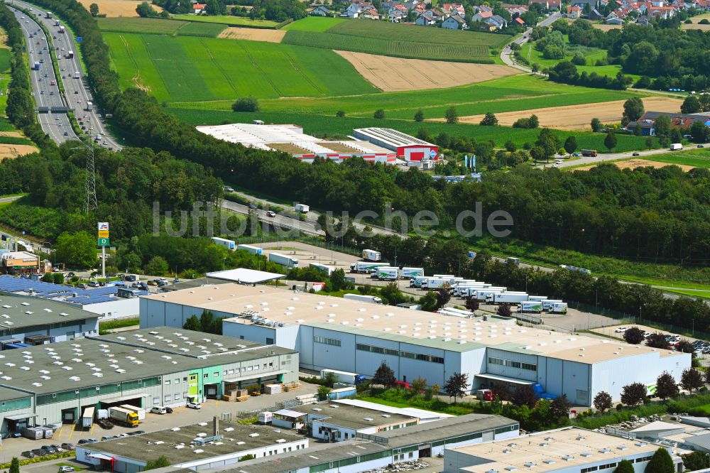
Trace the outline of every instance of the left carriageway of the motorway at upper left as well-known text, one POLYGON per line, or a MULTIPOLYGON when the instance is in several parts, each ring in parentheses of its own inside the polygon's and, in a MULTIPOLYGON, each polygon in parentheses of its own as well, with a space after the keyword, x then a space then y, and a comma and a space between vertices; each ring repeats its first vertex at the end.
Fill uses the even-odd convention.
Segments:
POLYGON ((15 14, 25 35, 30 62, 30 82, 35 104, 39 110, 47 110, 47 112, 40 112, 37 116, 40 126, 55 143, 77 139, 66 112, 49 112, 53 107, 62 109, 62 107, 67 107, 67 104, 57 85, 58 79, 55 77, 52 67, 52 55, 45 33, 25 13, 12 7, 9 8, 15 14), (39 64, 39 70, 36 70, 35 64, 39 64))

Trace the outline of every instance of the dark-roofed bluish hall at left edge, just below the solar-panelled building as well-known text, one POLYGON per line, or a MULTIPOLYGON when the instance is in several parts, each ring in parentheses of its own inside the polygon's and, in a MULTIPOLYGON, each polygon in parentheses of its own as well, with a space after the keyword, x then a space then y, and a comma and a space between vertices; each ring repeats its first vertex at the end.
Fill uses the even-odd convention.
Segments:
POLYGON ((98 333, 99 318, 91 312, 53 300, 0 295, 0 344, 4 350, 98 333))

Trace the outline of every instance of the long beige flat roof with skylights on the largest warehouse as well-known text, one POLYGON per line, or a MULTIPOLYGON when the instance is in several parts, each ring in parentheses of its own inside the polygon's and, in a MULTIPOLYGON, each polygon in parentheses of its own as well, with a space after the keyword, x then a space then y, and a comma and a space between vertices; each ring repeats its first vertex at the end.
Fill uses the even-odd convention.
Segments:
POLYGON ((295 293, 293 290, 272 286, 251 287, 226 283, 151 294, 145 298, 233 314, 234 317, 226 320, 231 323, 253 325, 249 318, 239 315, 258 312, 272 322, 285 325, 311 325, 339 332, 359 332, 371 337, 395 339, 454 352, 492 347, 585 364, 638 354, 689 357, 688 354, 677 354, 645 345, 629 345, 623 341, 518 327, 501 324, 496 320, 452 317, 328 295, 295 293))

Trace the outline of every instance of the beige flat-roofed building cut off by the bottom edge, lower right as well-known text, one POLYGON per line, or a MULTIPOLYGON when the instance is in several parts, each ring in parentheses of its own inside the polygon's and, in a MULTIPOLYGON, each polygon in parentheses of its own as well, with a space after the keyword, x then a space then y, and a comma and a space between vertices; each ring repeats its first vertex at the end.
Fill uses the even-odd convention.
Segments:
POLYGON ((683 461, 672 447, 616 437, 594 430, 563 428, 509 440, 444 450, 444 473, 534 471, 536 473, 611 473, 621 460, 643 473, 659 448, 670 453, 677 472, 683 461))

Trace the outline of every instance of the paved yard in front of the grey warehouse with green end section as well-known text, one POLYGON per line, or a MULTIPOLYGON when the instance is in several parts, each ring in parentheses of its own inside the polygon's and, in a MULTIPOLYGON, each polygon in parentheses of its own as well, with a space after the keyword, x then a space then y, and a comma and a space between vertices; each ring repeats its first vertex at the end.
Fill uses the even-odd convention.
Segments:
MULTIPOLYGON (((80 430, 79 428, 76 428, 75 424, 65 424, 62 425, 62 428, 55 432, 54 437, 51 439, 30 440, 22 437, 4 439, 2 441, 2 447, 0 447, 0 463, 10 462, 12 457, 20 457, 22 452, 40 448, 42 445, 62 444, 63 442, 71 442, 74 445, 77 445, 79 440, 82 438, 93 437, 97 440, 101 440, 101 437, 104 435, 116 435, 123 432, 131 432, 133 430, 145 430, 146 432, 165 430, 168 428, 178 427, 180 425, 190 425, 204 420, 211 420, 215 415, 217 415, 217 417, 221 417, 223 413, 231 413, 231 415, 236 418, 236 415, 239 415, 239 413, 243 411, 263 411, 266 408, 271 408, 278 402, 290 401, 294 399, 295 396, 315 393, 317 389, 318 386, 315 384, 302 383, 300 388, 297 388, 295 391, 257 396, 249 398, 249 400, 242 403, 209 400, 202 403, 202 409, 199 411, 196 411, 195 409, 188 409, 186 407, 179 407, 173 408, 172 414, 158 415, 146 413, 145 420, 141 420, 141 424, 138 425, 137 429, 114 425, 114 428, 104 430, 99 427, 99 425, 94 424, 94 427, 90 430, 80 430)), ((23 472, 24 471, 25 467, 23 467, 23 472)), ((52 472, 55 473, 56 471, 57 468, 55 466, 52 469, 52 472)))

